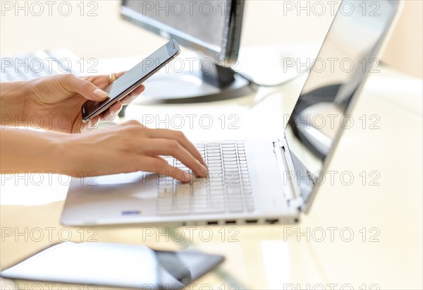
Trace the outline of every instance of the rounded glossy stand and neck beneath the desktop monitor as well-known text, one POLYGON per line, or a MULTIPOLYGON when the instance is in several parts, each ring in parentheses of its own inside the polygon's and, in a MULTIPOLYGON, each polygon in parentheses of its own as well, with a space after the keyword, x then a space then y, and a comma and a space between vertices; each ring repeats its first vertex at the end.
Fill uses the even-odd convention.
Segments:
POLYGON ((214 64, 211 69, 166 71, 162 68, 145 82, 137 104, 215 102, 250 95, 257 87, 230 68, 214 64))

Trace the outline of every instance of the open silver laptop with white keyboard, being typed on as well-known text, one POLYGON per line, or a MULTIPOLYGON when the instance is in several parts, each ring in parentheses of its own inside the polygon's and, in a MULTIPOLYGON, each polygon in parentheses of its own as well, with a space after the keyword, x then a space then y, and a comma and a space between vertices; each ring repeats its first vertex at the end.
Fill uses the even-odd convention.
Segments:
MULTIPOLYGON (((376 57, 399 6, 400 1, 393 0, 341 1, 285 130, 277 138, 197 143, 209 165, 209 178, 191 183, 143 171, 72 179, 61 223, 299 222, 312 205, 343 128, 348 128, 347 116, 368 73, 377 69, 376 57), (322 120, 324 116, 332 119, 322 120)), ((165 158, 189 170, 178 160, 165 158)))

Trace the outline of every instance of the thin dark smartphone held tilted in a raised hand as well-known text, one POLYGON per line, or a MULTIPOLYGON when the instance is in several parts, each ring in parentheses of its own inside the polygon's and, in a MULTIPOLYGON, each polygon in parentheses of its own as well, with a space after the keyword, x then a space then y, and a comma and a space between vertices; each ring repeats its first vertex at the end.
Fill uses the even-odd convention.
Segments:
POLYGON ((164 67, 175 56, 180 53, 180 48, 176 40, 171 40, 157 49, 150 56, 143 59, 130 71, 124 73, 104 89, 109 97, 102 102, 87 101, 82 104, 82 121, 87 122, 98 114, 108 109, 112 104, 118 102, 130 92, 139 87, 150 76, 154 75, 160 68, 164 67))

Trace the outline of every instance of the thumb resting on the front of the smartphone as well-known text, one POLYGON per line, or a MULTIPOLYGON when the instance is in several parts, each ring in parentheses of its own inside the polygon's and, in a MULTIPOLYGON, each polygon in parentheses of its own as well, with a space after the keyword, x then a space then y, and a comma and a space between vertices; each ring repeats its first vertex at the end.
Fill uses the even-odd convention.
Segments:
POLYGON ((109 97, 107 92, 100 90, 99 87, 93 83, 83 80, 82 78, 78 78, 76 75, 72 74, 66 75, 64 86, 66 90, 78 92, 78 94, 85 97, 85 99, 90 99, 96 102, 104 101, 106 97, 109 97))

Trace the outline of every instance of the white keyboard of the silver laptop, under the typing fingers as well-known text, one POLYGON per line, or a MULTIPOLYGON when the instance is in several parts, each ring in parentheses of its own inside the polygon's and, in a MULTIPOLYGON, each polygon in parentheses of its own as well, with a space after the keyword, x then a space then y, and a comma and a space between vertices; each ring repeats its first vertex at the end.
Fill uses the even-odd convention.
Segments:
MULTIPOLYGON (((200 143, 196 147, 209 166, 209 176, 190 183, 159 176, 158 214, 252 212, 254 204, 244 144, 200 143)), ((165 159, 169 164, 191 172, 177 159, 165 159)))

